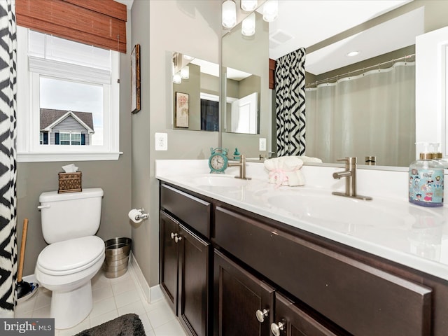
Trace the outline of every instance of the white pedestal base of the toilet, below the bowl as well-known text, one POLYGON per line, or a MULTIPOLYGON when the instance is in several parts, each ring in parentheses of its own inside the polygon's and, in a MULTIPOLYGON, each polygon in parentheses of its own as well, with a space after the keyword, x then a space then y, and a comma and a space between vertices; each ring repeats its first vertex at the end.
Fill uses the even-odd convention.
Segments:
POLYGON ((72 328, 90 314, 92 307, 92 281, 89 280, 70 291, 53 291, 50 316, 55 318, 56 329, 72 328))

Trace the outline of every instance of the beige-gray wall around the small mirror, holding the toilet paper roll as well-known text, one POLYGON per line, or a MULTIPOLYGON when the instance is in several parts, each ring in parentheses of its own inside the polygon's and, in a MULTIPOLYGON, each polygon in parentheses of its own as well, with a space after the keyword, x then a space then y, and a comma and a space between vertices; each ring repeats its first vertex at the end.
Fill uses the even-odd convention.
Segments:
MULTIPOLYGON (((155 160, 206 159, 218 132, 172 129, 170 59, 178 51, 219 63, 221 1, 134 0, 132 45, 141 45, 141 111, 132 116, 132 207, 150 218, 134 225, 133 252, 150 286, 158 284, 158 181, 155 160), (148 34, 149 33, 149 34, 148 34), (155 132, 168 134, 168 151, 155 151, 155 132)), ((181 169, 181 167, 179 167, 181 169)))

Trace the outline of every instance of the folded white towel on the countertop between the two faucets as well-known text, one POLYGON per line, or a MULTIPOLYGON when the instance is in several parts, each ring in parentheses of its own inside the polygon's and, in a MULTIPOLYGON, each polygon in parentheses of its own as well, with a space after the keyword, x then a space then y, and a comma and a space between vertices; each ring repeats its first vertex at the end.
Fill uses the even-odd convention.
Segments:
POLYGON ((305 179, 300 172, 303 161, 297 156, 281 156, 265 160, 265 168, 269 171, 269 183, 277 186, 303 186, 305 179))

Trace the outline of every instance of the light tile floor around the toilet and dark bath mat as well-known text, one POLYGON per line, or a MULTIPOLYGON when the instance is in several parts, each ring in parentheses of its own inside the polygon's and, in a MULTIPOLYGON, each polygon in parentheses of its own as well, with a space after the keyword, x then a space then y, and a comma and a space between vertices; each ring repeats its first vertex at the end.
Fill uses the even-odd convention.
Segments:
MULTIPOLYGON (((146 336, 186 336, 173 311, 164 299, 149 304, 141 293, 132 268, 116 279, 108 279, 100 271, 92 279, 93 309, 84 321, 71 329, 55 330, 55 336, 76 333, 123 314, 139 315, 146 336)), ((40 287, 33 297, 18 303, 16 318, 50 317, 51 292, 40 287)))

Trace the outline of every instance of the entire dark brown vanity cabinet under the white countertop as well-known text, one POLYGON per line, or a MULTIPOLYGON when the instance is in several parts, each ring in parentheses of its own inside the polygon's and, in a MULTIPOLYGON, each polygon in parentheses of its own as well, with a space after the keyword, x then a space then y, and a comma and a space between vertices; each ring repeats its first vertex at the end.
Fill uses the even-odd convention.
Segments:
POLYGON ((160 285, 192 335, 448 335, 447 281, 164 183, 160 190, 160 285))

